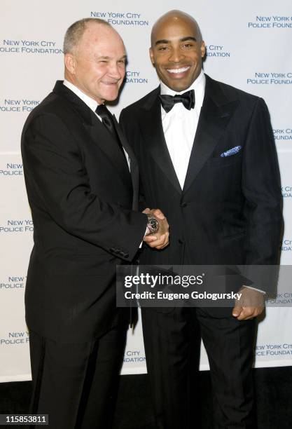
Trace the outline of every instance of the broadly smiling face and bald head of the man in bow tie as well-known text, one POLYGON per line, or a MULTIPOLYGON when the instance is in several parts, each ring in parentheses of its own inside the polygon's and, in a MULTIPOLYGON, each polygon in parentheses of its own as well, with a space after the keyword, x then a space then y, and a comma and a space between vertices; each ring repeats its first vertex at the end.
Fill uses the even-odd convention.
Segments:
POLYGON ((150 57, 158 77, 176 92, 190 87, 202 69, 205 45, 200 29, 179 11, 163 15, 151 34, 150 57))

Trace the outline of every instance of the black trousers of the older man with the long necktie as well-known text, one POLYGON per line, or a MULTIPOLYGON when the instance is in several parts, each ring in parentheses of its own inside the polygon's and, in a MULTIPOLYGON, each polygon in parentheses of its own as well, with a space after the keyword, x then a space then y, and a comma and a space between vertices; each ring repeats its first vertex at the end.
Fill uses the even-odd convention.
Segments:
MULTIPOLYGON (((30 332, 32 414, 51 429, 111 428, 127 328, 86 343, 57 343, 30 332)), ((34 426, 30 426, 34 428, 34 426)))

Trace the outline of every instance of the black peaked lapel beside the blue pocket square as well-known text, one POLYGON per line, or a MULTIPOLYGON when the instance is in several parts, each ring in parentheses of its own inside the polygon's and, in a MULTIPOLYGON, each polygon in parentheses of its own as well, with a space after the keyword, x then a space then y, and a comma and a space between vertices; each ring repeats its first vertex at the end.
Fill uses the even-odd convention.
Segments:
POLYGON ((204 102, 190 154, 183 192, 188 190, 204 163, 211 156, 237 104, 237 101, 229 102, 218 87, 218 83, 206 76, 204 102))

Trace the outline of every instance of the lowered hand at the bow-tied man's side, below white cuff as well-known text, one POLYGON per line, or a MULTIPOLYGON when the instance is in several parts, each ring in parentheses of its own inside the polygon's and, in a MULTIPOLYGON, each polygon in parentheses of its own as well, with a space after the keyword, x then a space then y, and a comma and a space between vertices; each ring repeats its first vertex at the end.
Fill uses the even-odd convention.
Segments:
POLYGON ((232 315, 237 320, 249 320, 256 318, 265 308, 265 295, 249 287, 242 287, 238 293, 242 294, 240 299, 235 301, 232 315))

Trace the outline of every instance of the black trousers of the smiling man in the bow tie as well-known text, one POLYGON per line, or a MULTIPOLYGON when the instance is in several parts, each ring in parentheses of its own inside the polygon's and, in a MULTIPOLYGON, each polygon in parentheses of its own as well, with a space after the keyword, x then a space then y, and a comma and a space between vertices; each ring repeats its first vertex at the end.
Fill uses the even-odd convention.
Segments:
POLYGON ((169 313, 143 308, 142 322, 157 429, 200 428, 194 402, 200 396, 199 332, 209 358, 212 428, 256 428, 251 373, 255 320, 214 318, 203 308, 174 308, 169 313))

